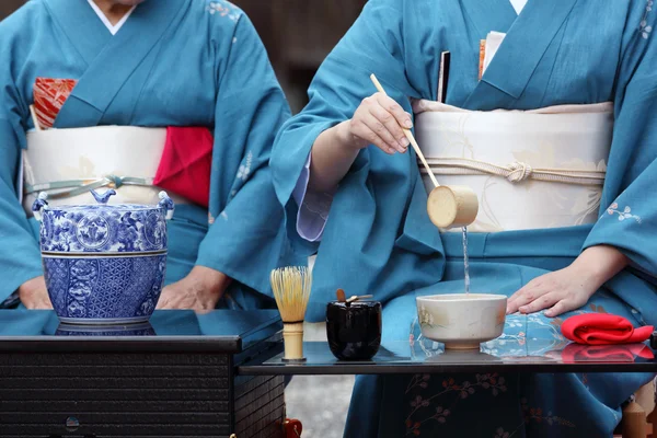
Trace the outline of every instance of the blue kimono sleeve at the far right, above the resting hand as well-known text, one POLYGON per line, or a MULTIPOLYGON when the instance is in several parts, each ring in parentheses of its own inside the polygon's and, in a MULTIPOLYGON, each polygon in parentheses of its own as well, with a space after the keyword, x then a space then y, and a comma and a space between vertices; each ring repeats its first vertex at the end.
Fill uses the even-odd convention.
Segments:
MULTIPOLYGON (((585 249, 611 245, 657 284, 657 11, 647 9, 621 65, 600 218, 585 249)), ((632 293, 631 291, 629 293, 632 293)))

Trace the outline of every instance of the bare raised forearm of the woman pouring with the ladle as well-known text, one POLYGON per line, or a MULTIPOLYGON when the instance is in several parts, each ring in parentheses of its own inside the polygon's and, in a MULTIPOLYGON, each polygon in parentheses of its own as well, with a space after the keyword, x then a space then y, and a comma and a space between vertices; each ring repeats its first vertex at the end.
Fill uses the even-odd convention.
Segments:
POLYGON ((345 177, 362 145, 348 134, 346 120, 326 129, 315 140, 311 151, 308 188, 332 193, 345 177))

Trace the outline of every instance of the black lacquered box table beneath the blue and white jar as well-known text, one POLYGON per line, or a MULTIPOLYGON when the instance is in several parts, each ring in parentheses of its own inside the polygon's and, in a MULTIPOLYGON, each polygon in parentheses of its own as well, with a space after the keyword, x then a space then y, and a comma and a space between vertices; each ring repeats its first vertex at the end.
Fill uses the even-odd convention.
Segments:
POLYGON ((158 311, 114 330, 0 311, 0 437, 280 438, 284 378, 235 367, 281 351, 281 327, 275 310, 158 311))

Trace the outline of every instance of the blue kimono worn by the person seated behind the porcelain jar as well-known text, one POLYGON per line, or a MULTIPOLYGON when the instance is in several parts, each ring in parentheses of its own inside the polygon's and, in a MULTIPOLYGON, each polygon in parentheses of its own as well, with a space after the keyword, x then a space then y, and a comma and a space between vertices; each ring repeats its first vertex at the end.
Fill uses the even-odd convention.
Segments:
POLYGON ((240 9, 223 1, 146 1, 113 36, 87 0, 33 0, 0 23, 0 302, 43 275, 38 223, 25 218, 16 191, 21 148, 33 128, 33 84, 47 77, 78 80, 55 128, 214 131, 209 211, 176 207, 166 284, 207 266, 234 279, 223 306, 274 306, 269 270, 293 256, 268 161, 290 113, 240 9))

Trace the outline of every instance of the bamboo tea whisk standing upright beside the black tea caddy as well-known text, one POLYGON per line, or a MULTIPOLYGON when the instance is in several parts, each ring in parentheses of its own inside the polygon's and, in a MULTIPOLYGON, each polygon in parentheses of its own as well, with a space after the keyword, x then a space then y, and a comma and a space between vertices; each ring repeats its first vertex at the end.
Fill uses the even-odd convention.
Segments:
POLYGON ((306 267, 284 267, 272 272, 270 281, 283 320, 283 360, 304 361, 303 321, 310 298, 312 274, 306 267))

